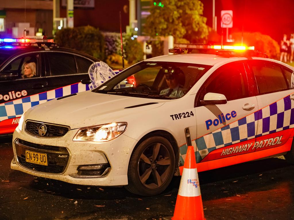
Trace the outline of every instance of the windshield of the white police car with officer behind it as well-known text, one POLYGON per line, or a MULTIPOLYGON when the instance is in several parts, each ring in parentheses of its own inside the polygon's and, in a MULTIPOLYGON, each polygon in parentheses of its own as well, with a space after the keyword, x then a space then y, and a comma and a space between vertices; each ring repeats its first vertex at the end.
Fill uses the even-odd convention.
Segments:
POLYGON ((140 62, 92 92, 155 99, 183 97, 212 66, 176 62, 140 62))

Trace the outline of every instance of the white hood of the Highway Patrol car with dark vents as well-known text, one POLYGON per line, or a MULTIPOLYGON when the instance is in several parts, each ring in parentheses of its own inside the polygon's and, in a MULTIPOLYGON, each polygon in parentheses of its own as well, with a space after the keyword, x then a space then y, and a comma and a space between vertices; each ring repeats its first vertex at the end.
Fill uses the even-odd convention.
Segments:
POLYGON ((157 108, 165 101, 87 91, 34 106, 26 112, 25 120, 66 125, 75 129, 118 122, 115 120, 138 114, 138 111, 157 108))

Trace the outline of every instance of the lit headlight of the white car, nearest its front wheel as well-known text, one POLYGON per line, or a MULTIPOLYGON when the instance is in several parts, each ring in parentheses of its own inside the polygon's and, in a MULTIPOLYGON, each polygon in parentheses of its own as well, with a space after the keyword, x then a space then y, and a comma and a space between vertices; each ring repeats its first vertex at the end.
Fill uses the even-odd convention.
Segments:
POLYGON ((110 123, 93 127, 80 128, 73 141, 111 141, 120 136, 127 127, 126 122, 110 123))

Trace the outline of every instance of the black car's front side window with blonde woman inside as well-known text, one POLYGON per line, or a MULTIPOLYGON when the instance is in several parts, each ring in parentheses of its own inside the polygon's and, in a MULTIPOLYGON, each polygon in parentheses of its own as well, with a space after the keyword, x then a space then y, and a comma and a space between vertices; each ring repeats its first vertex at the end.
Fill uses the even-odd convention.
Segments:
POLYGON ((39 62, 40 62, 39 53, 23 55, 12 60, 8 65, 6 65, 3 71, 16 72, 18 73, 19 78, 26 78, 26 76, 24 75, 24 68, 25 68, 24 65, 29 64, 29 66, 33 68, 33 72, 34 72, 33 77, 38 77, 40 76, 39 62))

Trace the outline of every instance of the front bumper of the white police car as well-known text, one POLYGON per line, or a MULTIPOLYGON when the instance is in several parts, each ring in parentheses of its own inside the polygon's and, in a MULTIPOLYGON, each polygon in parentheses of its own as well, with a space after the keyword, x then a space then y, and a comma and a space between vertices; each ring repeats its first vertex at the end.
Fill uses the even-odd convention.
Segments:
POLYGON ((77 131, 61 138, 38 138, 16 128, 11 169, 80 185, 127 185, 128 163, 137 141, 124 134, 104 143, 72 141, 77 131), (25 150, 46 153, 48 166, 27 163, 25 150))

